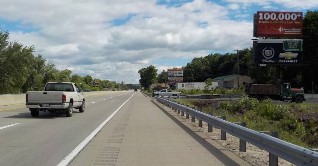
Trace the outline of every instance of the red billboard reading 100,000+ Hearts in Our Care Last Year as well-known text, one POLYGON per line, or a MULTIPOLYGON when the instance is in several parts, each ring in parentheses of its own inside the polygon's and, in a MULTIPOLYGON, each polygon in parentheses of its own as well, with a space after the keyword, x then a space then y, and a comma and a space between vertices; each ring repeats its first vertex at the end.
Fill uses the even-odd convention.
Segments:
POLYGON ((302 36, 302 12, 258 11, 257 36, 302 36))

